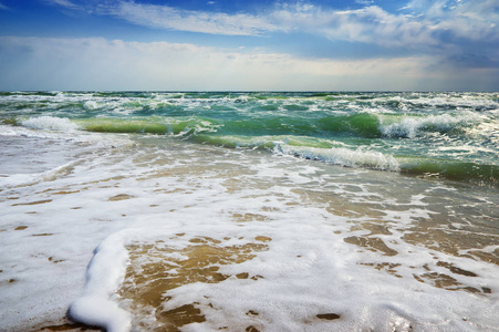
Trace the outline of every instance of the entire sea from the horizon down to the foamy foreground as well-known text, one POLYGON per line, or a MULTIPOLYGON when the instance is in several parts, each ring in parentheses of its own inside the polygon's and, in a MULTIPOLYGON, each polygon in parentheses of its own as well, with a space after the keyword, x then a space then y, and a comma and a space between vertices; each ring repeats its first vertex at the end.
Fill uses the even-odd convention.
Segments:
POLYGON ((497 93, 4 92, 0 147, 1 331, 499 331, 497 93))

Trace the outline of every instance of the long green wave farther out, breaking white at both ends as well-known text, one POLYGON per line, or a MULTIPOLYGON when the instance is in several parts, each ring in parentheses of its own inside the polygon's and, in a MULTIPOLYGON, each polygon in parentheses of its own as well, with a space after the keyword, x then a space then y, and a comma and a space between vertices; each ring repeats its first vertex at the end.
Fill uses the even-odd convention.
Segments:
MULTIPOLYGON (((94 102, 85 103, 89 110, 98 108, 94 102)), ((162 110, 186 113, 181 106, 165 106, 162 110)), ((219 132, 226 135, 302 135, 331 137, 341 135, 361 138, 402 137, 415 138, 424 133, 459 133, 471 127, 480 120, 479 116, 465 113, 461 115, 378 115, 357 113, 352 115, 335 115, 324 117, 303 116, 260 116, 215 118, 200 116, 157 116, 156 111, 142 108, 134 117, 83 118, 71 121, 66 117, 39 116, 28 120, 3 122, 18 123, 22 126, 38 129, 74 131, 82 128, 89 132, 103 133, 149 133, 179 134, 186 128, 196 133, 219 132), (144 116, 146 115, 146 116, 144 116), (148 116, 147 116, 148 115, 148 116)), ((209 115, 209 114, 207 114, 209 115)))

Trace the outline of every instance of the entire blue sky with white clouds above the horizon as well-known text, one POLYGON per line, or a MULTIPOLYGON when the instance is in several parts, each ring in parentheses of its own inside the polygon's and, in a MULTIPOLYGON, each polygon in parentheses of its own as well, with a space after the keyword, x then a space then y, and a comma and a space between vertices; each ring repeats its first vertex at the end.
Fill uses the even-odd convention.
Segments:
POLYGON ((499 91, 499 0, 0 0, 0 90, 499 91))

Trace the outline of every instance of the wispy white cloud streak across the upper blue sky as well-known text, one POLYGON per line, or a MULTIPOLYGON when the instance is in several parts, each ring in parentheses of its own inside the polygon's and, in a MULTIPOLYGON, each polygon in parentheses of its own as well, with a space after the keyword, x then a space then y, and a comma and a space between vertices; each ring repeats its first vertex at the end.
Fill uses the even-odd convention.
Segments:
MULTIPOLYGON (((67 9, 79 8, 71 2, 73 0, 46 1, 67 9)), ((409 48, 420 52, 454 44, 460 46, 458 39, 499 40, 497 0, 412 0, 396 13, 377 6, 336 10, 304 1, 276 2, 259 14, 184 10, 165 4, 141 3, 138 0, 108 0, 96 7, 86 6, 89 12, 157 29, 225 35, 306 32, 333 41, 409 48)))

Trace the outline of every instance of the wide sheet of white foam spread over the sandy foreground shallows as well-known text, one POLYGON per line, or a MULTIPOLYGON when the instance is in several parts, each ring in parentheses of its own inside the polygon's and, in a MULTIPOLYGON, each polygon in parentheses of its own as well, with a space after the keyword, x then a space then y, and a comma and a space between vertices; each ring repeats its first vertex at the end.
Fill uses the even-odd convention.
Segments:
POLYGON ((183 329, 215 330, 221 322, 233 330, 248 323, 272 331, 310 326, 385 331, 408 325, 422 331, 478 330, 497 324, 497 307, 491 304, 499 289, 496 266, 404 241, 407 227, 430 218, 425 195, 433 194, 425 191, 425 181, 404 180, 393 173, 374 176, 325 163, 315 163, 311 169, 308 160, 259 151, 162 142, 157 148, 100 151, 76 165, 71 175, 0 191, 1 229, 6 230, 0 232, 2 278, 18 280, 2 286, 10 290, 0 299, 2 308, 11 308, 0 313, 6 329, 23 330, 21 321, 24 330, 30 330, 30 321, 22 318, 39 318, 48 310, 62 317, 64 305, 73 301, 74 319, 110 331, 128 331, 135 318, 124 312, 129 308, 115 294, 126 268, 125 245, 164 240, 183 249, 194 237, 210 237, 223 247, 254 242, 257 236, 272 239, 267 242, 268 250, 243 263, 225 264, 220 273, 248 272, 263 278, 189 283, 168 293, 173 298, 165 308, 194 302, 202 307, 206 322, 183 329), (310 177, 309 181, 289 180, 304 177, 310 177), (393 190, 384 190, 392 184, 393 190), (394 193, 388 196, 387 191, 394 193), (119 195, 127 199, 111 199, 119 195), (12 196, 17 199, 7 199, 12 196), (328 210, 341 209, 342 204, 353 205, 344 207, 346 214, 355 206, 388 205, 376 205, 378 214, 386 210, 376 222, 389 226, 391 234, 376 237, 398 253, 388 257, 345 242, 349 237, 367 236, 370 231, 360 226, 375 215, 368 215, 367 207, 366 214, 347 216, 328 210), (393 211, 389 206, 395 207, 393 211), (15 230, 18 226, 28 228, 15 230), (180 232, 185 236, 174 237, 180 232), (33 237, 41 234, 52 236, 33 237), (427 268, 449 273, 437 261, 478 272, 479 277, 456 279, 477 289, 489 287, 493 293, 448 291, 414 278, 427 273, 427 268), (394 264, 403 278, 370 263, 394 264), (40 299, 49 303, 28 305, 40 304, 40 299), (251 319, 246 314, 249 310, 259 317, 251 319), (342 318, 328 322, 316 319, 321 313, 342 318))

